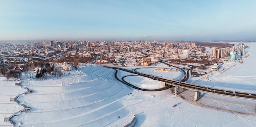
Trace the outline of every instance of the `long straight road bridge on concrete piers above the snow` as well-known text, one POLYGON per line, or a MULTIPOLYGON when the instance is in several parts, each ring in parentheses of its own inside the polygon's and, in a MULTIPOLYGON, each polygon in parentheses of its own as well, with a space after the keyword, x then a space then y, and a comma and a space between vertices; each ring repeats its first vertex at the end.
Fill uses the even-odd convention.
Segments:
MULTIPOLYGON (((159 80, 161 82, 165 82, 166 88, 170 88, 168 86, 174 86, 174 94, 175 96, 178 94, 177 89, 178 87, 183 88, 183 89, 189 89, 189 90, 193 90, 195 91, 195 96, 194 96, 194 101, 196 102, 198 99, 200 99, 201 96, 201 92, 203 93, 208 93, 208 94, 215 94, 215 95, 220 95, 220 96, 227 96, 227 97, 233 97, 233 98, 242 98, 242 99, 249 99, 249 100, 256 100, 256 94, 255 93, 247 93, 247 92, 242 92, 242 91, 232 91, 232 90, 227 90, 227 89, 218 89, 218 88, 213 88, 213 87, 206 87, 206 86, 201 86, 201 85, 195 85, 195 84, 191 84, 191 83, 187 83, 187 82, 183 82, 183 81, 176 81, 176 80, 171 80, 171 79, 166 79, 166 78, 162 78, 162 77, 157 77, 157 76, 153 76, 153 75, 149 75, 149 74, 144 74, 144 73, 140 73, 137 71, 132 71, 132 70, 127 70, 124 68, 119 68, 119 67, 112 67, 112 66, 105 66, 108 68, 112 68, 112 69, 119 69, 122 71, 127 71, 130 72, 132 74, 137 74, 140 76, 144 76, 147 78, 151 78, 154 80, 159 80)), ((188 74, 185 74, 184 77, 186 77, 188 74)), ((127 84, 127 82, 126 82, 127 84)), ((137 89, 138 87, 133 86, 133 85, 129 85, 135 89, 137 89)), ((139 88, 140 90, 144 90, 139 88)), ((163 89, 164 90, 164 89, 163 89)), ((148 91, 148 90, 145 90, 148 91)), ((150 90, 150 91, 156 91, 156 90, 150 90)), ((159 91, 159 90, 157 90, 159 91)))

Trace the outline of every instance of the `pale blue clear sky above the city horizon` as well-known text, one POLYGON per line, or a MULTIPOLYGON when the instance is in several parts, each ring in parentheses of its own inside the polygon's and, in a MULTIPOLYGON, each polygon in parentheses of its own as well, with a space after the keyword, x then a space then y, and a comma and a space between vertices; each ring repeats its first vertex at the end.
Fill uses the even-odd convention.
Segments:
POLYGON ((0 40, 256 40, 256 0, 1 0, 0 40))

